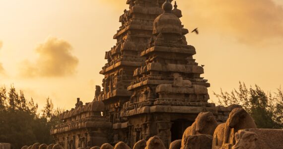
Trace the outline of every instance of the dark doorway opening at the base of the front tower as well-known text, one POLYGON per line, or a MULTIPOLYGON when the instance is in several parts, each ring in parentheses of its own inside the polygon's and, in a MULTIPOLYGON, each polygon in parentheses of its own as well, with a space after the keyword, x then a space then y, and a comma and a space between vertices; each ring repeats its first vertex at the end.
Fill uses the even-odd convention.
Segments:
POLYGON ((186 119, 178 119, 175 121, 172 121, 171 126, 171 142, 175 140, 180 140, 183 137, 183 133, 186 130, 187 127, 191 126, 193 122, 188 121, 186 119))

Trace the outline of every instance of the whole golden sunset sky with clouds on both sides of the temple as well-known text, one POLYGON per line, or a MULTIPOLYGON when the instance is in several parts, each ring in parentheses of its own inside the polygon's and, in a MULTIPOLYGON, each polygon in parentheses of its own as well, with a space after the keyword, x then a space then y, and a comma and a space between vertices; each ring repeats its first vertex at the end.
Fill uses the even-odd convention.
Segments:
MULTIPOLYGON (((126 0, 0 0, 0 86, 24 91, 41 109, 49 96, 70 109, 93 99, 105 51, 116 43, 126 0)), ((177 0, 205 65, 212 92, 244 81, 276 91, 283 84, 283 0, 177 0)))

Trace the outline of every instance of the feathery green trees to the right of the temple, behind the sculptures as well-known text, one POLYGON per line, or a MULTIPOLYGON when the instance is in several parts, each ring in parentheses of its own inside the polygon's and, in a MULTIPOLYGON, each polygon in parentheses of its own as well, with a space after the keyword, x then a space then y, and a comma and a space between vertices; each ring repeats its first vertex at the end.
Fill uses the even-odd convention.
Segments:
POLYGON ((238 90, 230 93, 214 93, 220 105, 228 106, 239 104, 253 117, 258 128, 282 129, 283 128, 283 91, 278 88, 272 94, 265 93, 258 85, 248 89, 245 83, 239 84, 238 90))

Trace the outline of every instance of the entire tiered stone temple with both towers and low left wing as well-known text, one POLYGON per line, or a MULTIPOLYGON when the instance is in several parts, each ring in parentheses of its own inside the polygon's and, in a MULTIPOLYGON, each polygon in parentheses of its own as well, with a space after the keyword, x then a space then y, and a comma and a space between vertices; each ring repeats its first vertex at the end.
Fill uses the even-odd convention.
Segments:
POLYGON ((96 86, 90 103, 77 99, 51 130, 65 149, 89 148, 120 141, 133 147, 159 136, 168 149, 182 139, 200 112, 225 122, 232 107, 208 103, 210 83, 188 45, 182 12, 172 0, 127 0, 117 40, 105 53, 102 90, 96 86))

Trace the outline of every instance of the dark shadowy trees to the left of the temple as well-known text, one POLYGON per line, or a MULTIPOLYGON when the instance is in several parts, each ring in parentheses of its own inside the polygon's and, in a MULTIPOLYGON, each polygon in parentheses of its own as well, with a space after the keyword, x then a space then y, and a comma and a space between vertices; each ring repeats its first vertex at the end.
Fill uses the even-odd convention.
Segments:
POLYGON ((50 129, 60 122, 58 116, 63 110, 54 110, 50 98, 46 101, 40 116, 38 105, 32 98, 26 100, 23 91, 11 86, 7 92, 0 87, 0 142, 10 143, 13 149, 36 142, 51 144, 50 129))

